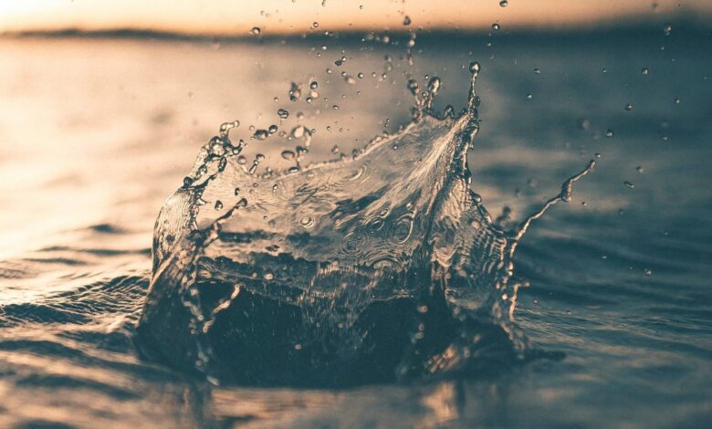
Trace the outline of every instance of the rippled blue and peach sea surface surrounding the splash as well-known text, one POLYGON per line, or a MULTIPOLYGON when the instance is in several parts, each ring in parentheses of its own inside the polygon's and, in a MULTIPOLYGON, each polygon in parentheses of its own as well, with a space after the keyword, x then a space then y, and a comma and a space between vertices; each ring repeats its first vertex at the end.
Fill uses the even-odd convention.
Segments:
MULTIPOLYGON (((0 425, 704 425, 712 413, 709 32, 674 26, 665 36, 661 26, 581 34, 422 36, 413 48, 413 65, 407 58, 407 40, 0 41, 0 195, 5 207, 0 211, 0 425), (339 61, 342 57, 346 59, 339 61), (406 87, 408 78, 423 89, 432 77, 441 79, 434 110, 442 112, 447 104, 455 106, 455 112, 466 108, 472 61, 481 66, 476 81, 481 99, 476 119, 481 122, 466 157, 472 174, 469 186, 482 202, 470 207, 481 205, 501 229, 511 229, 560 194, 567 178, 596 161, 595 170, 574 184, 571 201, 532 221, 522 236, 508 278, 509 285, 522 285, 508 296, 507 309, 516 296, 513 320, 504 314, 491 325, 517 333, 494 349, 505 350, 507 344, 515 356, 537 350, 546 351, 544 357, 485 361, 475 365, 476 371, 368 380, 363 374, 376 372, 369 363, 385 361, 384 354, 377 354, 361 367, 337 365, 324 382, 314 373, 333 369, 332 355, 317 360, 323 368, 309 366, 314 360, 289 355, 282 362, 287 369, 278 368, 281 377, 270 378, 278 372, 270 372, 268 365, 257 376, 246 377, 243 372, 249 368, 225 372, 232 361, 221 366, 209 359, 193 360, 189 352, 183 355, 203 344, 183 331, 190 330, 189 324, 161 327, 141 317, 157 267, 151 251, 156 218, 166 197, 191 174, 199 149, 219 135, 221 123, 239 120, 229 138, 247 142, 241 152, 246 169, 257 153, 265 155, 256 174, 259 183, 267 183, 271 179, 261 177, 265 167, 273 166, 275 174, 288 169, 295 160, 282 152, 296 153, 296 145, 304 146, 303 137, 288 140, 280 137, 281 131, 291 134, 299 125, 314 130, 309 153, 300 163, 304 170, 309 162, 337 160, 342 154, 348 160, 383 131, 399 135, 398 127, 411 120, 414 98, 406 87), (308 103, 312 81, 318 82, 313 90, 319 96, 308 103), (298 99, 291 101, 297 88, 298 99), (288 110, 288 118, 280 118, 278 109, 288 110), (250 139, 273 124, 278 130, 266 140, 250 139), (151 340, 141 335, 146 326, 159 327, 153 328, 151 340), (526 346, 518 342, 521 339, 526 346), (306 381, 289 378, 300 370, 306 381), (354 371, 361 371, 363 382, 338 385, 354 371)), ((391 166, 375 173, 389 189, 408 183, 435 190, 433 183, 452 174, 447 164, 445 170, 426 169, 438 173, 424 174, 435 182, 413 180, 409 154, 437 152, 447 141, 458 141, 441 139, 440 131, 446 137, 447 131, 460 130, 456 120, 444 125, 425 118, 420 123, 427 132, 410 140, 417 147, 405 142, 397 150, 385 148, 388 152, 383 153, 391 155, 372 162, 391 166), (432 145, 426 144, 428 132, 432 145), (393 168, 401 156, 402 168, 393 168)), ((239 173, 243 164, 237 156, 239 173)), ((443 162, 435 164, 443 168, 443 162)), ((319 169, 314 171, 319 174, 319 169)), ((245 184, 249 188, 253 180, 240 181, 236 187, 245 196, 245 184)), ((208 204, 200 206, 200 213, 215 218, 235 204, 220 196, 236 198, 233 184, 206 194, 208 204), (223 207, 216 209, 220 198, 223 207)), ((272 195, 271 188, 255 189, 253 199, 272 195)), ((354 197, 370 191, 341 186, 340 192, 354 197)), ((448 193, 435 194, 442 199, 448 193)), ((401 194, 389 195, 406 207, 401 194)), ((250 196, 246 200, 249 208, 250 196)), ((398 217, 383 214, 385 225, 397 226, 395 221, 403 218, 395 203, 389 208, 398 217)), ((431 205, 424 204, 417 213, 437 213, 431 205)), ((365 213, 361 206, 354 210, 365 213)), ((228 223, 234 232, 245 227, 239 217, 243 212, 257 213, 237 210, 228 223)), ((308 231, 328 226, 317 216, 296 211, 293 220, 295 228, 313 224, 308 231)), ((256 217, 250 222, 261 221, 256 217)), ((369 242, 363 237, 371 235, 363 235, 355 248, 376 249, 375 256, 403 254, 408 247, 403 243, 417 246, 418 237, 427 236, 419 233, 416 221, 408 222, 412 229, 393 228, 393 234, 403 238, 395 240, 398 246, 393 240, 383 246, 380 238, 369 242)), ((277 233, 288 235, 284 228, 277 233)), ((486 230, 497 235, 499 228, 486 230)), ((460 228, 454 231, 465 234, 460 228)), ((379 234, 373 236, 382 238, 379 234)), ((314 246, 292 244, 292 253, 314 246)), ((481 252, 485 247, 474 248, 481 252)), ((323 249, 328 254, 330 247, 323 249)), ((225 249, 215 251, 227 254, 225 249)), ((392 276, 387 267, 393 267, 393 259, 402 260, 395 257, 379 265, 379 276, 392 276)), ((273 261, 260 262, 254 285, 241 277, 245 288, 269 286, 269 274, 280 279, 277 272, 267 273, 267 278, 262 272, 273 261)), ((475 276, 487 272, 464 269, 475 276)), ((338 276, 326 276, 309 290, 345 276, 336 272, 338 276)), ((233 277, 239 273, 230 270, 233 277)), ((246 274, 243 277, 252 278, 246 274)), ((374 277, 372 272, 356 274, 350 277, 355 284, 374 277)), ((389 278, 391 286, 393 276, 389 278)), ((447 280, 457 283, 453 277, 447 280)), ((277 286, 280 294, 286 287, 277 286)), ((493 290, 498 289, 477 290, 474 297, 455 299, 465 301, 464 308, 480 309, 481 315, 480 304, 497 298, 493 290)), ((384 293, 393 297, 394 291, 384 293)), ((349 297, 345 308, 368 305, 359 294, 349 297)), ((335 313, 319 305, 309 308, 319 309, 309 313, 313 323, 319 318, 326 323, 335 313)), ((172 307, 152 307, 149 302, 146 309, 160 315, 172 307)), ((376 326, 397 326, 389 323, 392 316, 390 309, 382 316, 376 313, 376 326)), ((351 326, 352 319, 343 320, 351 326)), ((218 322, 213 326, 220 329, 218 322)), ((313 326, 301 331, 319 333, 313 326)), ((411 329, 395 333, 403 330, 411 329)), ((317 338, 353 345, 346 334, 354 331, 323 330, 317 338)), ((386 338, 394 336, 386 330, 386 338)), ((264 343, 249 340, 268 349, 268 338, 264 343)), ((290 340, 289 353, 298 351, 296 345, 309 350, 308 342, 290 340)))

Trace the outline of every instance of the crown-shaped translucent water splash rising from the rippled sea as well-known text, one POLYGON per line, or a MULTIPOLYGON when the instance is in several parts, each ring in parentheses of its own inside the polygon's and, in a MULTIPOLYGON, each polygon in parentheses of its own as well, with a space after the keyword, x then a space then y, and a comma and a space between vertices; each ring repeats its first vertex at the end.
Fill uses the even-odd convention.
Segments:
POLYGON ((285 151, 295 167, 260 175, 261 155, 246 167, 246 142, 230 141, 238 123, 221 127, 156 221, 144 351, 214 382, 298 385, 527 360, 512 321, 514 251, 594 162, 502 229, 470 188, 480 66, 469 70, 465 110, 435 112, 440 79, 424 90, 410 80, 413 120, 340 161, 303 166, 285 151))

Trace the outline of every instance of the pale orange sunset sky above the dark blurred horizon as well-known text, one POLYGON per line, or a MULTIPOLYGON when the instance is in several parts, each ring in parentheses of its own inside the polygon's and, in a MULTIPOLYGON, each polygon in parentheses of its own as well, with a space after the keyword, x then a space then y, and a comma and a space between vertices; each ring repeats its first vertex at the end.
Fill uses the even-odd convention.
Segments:
POLYGON ((185 34, 595 26, 688 13, 712 21, 712 0, 0 0, 0 32, 77 28, 185 34), (318 23, 316 26, 314 23, 318 23))

